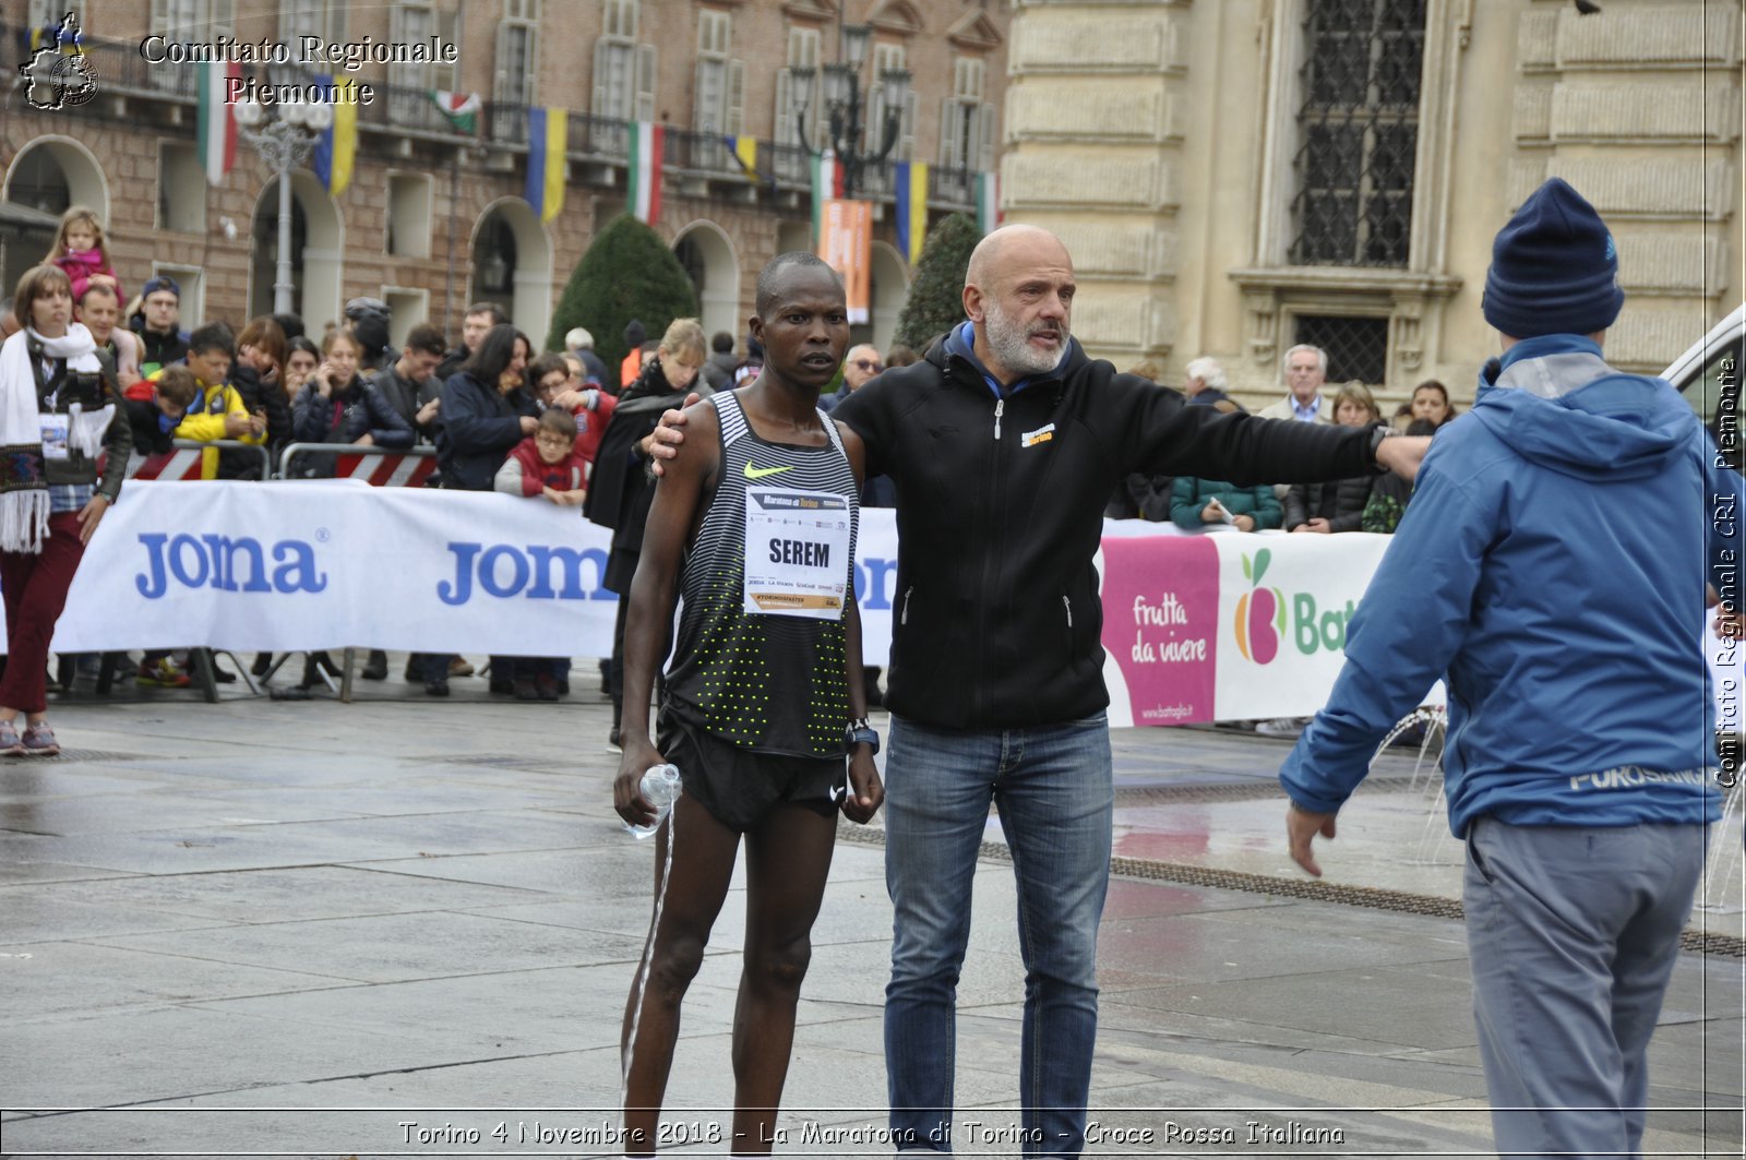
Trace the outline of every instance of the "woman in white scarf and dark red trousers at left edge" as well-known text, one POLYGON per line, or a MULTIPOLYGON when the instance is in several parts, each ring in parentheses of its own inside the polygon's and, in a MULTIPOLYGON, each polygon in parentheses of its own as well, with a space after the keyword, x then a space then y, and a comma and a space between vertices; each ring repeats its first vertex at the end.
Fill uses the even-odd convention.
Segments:
POLYGON ((120 493, 133 437, 126 416, 117 414, 113 374, 96 356, 91 332, 72 320, 66 274, 54 266, 26 271, 14 311, 23 330, 0 346, 0 597, 7 629, 0 755, 54 756, 61 749, 45 718, 49 639, 86 543, 120 493), (108 461, 98 482, 101 451, 108 461))

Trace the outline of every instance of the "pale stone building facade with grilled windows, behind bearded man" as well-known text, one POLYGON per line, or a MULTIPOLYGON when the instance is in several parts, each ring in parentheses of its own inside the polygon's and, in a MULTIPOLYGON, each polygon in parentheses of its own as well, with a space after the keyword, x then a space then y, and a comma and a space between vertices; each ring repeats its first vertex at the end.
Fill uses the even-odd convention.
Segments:
POLYGON ((1617 236, 1608 355, 1659 370, 1746 293, 1741 7, 1601 7, 1016 0, 1007 220, 1067 239, 1117 365, 1212 355, 1271 402, 1316 341, 1386 400, 1472 398, 1491 238, 1563 176, 1617 236))

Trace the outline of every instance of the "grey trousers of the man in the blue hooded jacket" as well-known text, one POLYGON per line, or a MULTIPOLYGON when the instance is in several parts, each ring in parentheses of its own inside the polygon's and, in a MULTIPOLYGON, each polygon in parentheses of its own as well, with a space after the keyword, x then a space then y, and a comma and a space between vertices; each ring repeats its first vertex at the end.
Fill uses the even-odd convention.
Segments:
POLYGON ((1633 1155, 1706 826, 1467 832, 1474 1018, 1503 1157, 1633 1155))

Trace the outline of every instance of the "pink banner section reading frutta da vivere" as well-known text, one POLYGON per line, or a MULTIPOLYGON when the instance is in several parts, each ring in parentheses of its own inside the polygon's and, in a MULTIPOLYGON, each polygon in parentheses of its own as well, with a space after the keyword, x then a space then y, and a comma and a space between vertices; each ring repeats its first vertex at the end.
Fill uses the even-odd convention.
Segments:
MULTIPOLYGON (((1126 692, 1135 725, 1213 720, 1219 650, 1219 552, 1210 538, 1103 540, 1103 648, 1110 697, 1126 692), (1119 673, 1124 688, 1116 688, 1119 673)), ((1112 716, 1112 720, 1116 720, 1112 716)))

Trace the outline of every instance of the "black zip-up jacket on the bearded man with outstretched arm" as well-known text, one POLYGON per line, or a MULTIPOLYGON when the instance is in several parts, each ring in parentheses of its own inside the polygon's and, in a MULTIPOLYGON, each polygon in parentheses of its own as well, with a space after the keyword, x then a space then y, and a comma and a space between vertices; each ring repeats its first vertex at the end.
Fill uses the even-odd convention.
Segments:
MULTIPOLYGON (((1086 358, 1004 388, 936 341, 833 412, 897 484, 897 590, 885 704, 936 728, 1091 716, 1103 610, 1091 557, 1130 472, 1238 484, 1374 470, 1371 432, 1189 407, 1086 358)), ((1166 582, 1168 583, 1168 582, 1166 582)))

